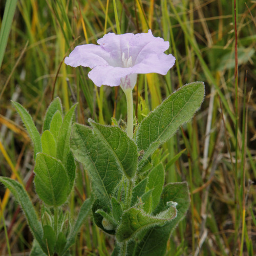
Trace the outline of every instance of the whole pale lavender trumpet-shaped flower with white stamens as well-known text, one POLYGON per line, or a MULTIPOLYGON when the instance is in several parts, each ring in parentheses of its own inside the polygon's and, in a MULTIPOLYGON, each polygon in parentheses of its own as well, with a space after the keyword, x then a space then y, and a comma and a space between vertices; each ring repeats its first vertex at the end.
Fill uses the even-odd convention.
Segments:
POLYGON ((100 38, 99 45, 75 47, 65 63, 72 67, 89 67, 89 78, 101 86, 121 86, 123 90, 133 89, 137 74, 158 73, 166 75, 174 66, 175 57, 163 52, 169 42, 147 33, 108 33, 100 38))

